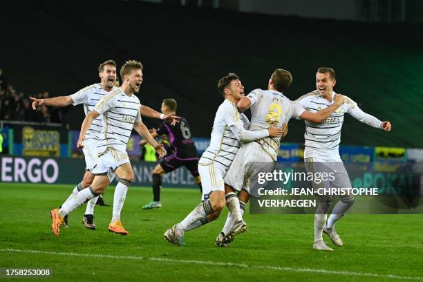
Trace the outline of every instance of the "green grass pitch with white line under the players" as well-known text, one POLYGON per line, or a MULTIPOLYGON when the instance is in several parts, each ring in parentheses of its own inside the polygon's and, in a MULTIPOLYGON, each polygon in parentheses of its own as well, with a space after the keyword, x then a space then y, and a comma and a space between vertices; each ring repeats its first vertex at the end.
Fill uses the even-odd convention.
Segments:
MULTIPOLYGON (((398 281, 423 280, 422 215, 350 214, 337 224, 344 239, 335 252, 312 250, 313 215, 250 215, 249 232, 229 248, 216 247, 226 210, 187 232, 186 245, 163 233, 200 200, 196 189, 162 189, 161 209, 142 210, 151 189, 131 187, 122 211, 128 236, 108 232, 111 207, 95 207, 96 230, 69 216, 68 229, 51 232, 48 211, 72 185, 0 184, 0 267, 50 268, 40 281, 398 281)), ((113 187, 104 194, 113 201, 113 187)), ((31 279, 33 280, 33 279, 31 279)), ((6 280, 5 280, 6 281, 6 280)))

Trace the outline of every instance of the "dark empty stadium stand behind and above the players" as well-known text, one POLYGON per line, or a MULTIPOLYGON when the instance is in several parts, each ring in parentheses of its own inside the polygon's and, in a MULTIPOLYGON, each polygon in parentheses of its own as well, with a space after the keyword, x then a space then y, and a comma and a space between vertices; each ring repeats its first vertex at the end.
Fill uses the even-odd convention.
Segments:
MULTIPOLYGON (((353 23, 137 1, 2 2, 0 68, 25 93, 70 95, 100 81, 97 66, 115 59, 144 64, 140 100, 155 109, 178 101, 196 136, 209 136, 223 98, 220 77, 235 72, 245 90, 265 88, 275 68, 292 72, 294 100, 314 90, 319 66, 337 71, 335 90, 361 109, 389 120, 389 134, 347 118, 341 144, 423 147, 423 34, 408 23, 353 23), (81 2, 82 3, 82 2, 81 2), (25 5, 26 9, 20 9, 25 5)), ((82 107, 64 121, 79 129, 82 107)), ((290 123, 287 142, 303 142, 303 122, 290 123)))

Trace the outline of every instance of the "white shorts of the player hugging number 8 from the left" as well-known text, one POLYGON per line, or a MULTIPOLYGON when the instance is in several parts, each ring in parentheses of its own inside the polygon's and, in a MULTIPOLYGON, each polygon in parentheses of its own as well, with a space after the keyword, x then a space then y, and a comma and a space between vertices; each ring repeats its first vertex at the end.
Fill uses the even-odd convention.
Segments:
POLYGON ((203 187, 203 196, 201 200, 209 200, 212 191, 225 191, 223 178, 226 169, 217 162, 209 164, 198 164, 198 173, 200 173, 201 187, 203 187))

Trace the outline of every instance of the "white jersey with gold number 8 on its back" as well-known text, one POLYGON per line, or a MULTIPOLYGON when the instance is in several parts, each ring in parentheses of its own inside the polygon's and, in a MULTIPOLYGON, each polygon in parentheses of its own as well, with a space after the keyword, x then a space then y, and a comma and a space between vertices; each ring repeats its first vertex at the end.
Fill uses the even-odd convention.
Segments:
MULTIPOLYGON (((249 129, 252 131, 267 129, 272 124, 281 127, 282 124, 288 124, 291 118, 298 119, 305 111, 300 104, 275 90, 255 89, 247 97, 251 101, 252 118, 249 129)), ((267 137, 256 142, 276 161, 281 138, 267 137)))

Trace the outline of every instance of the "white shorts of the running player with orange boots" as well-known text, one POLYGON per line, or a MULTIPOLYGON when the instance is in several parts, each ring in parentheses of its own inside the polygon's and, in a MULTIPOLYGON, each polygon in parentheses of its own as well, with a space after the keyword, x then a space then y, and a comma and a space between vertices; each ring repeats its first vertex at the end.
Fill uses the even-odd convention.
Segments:
MULTIPOLYGON (((108 147, 106 151, 99 156, 97 164, 91 171, 93 175, 107 175, 109 181, 115 178, 115 170, 122 164, 129 162, 126 151, 118 151, 113 147, 108 147)), ((130 163, 130 162, 129 162, 130 163)))

